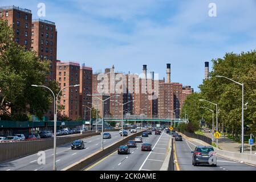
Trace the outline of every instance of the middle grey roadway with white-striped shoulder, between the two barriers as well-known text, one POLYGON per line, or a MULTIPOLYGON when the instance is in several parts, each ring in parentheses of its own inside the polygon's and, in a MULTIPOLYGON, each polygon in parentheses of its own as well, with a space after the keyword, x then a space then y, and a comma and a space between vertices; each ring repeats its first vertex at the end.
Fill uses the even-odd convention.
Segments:
POLYGON ((136 148, 130 148, 130 154, 117 154, 117 151, 101 159, 99 162, 86 168, 86 171, 159 171, 170 142, 170 135, 162 131, 161 135, 143 137, 144 143, 152 144, 152 151, 141 151, 141 144, 136 148))

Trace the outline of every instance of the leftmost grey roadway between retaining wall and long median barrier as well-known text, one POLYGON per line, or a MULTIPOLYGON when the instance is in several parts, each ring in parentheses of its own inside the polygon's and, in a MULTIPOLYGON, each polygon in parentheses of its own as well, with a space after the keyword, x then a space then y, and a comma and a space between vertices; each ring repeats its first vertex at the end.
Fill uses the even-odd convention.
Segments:
MULTIPOLYGON (((104 139, 104 147, 121 140, 119 131, 109 133, 111 133, 112 138, 104 139)), ((85 138, 83 141, 85 142, 85 148, 83 150, 71 150, 71 143, 57 147, 56 168, 58 171, 93 154, 101 148, 101 135, 85 138)), ((52 170, 53 148, 44 152, 46 154, 46 164, 39 165, 37 162, 39 156, 33 154, 0 164, 0 171, 50 171, 52 170)))

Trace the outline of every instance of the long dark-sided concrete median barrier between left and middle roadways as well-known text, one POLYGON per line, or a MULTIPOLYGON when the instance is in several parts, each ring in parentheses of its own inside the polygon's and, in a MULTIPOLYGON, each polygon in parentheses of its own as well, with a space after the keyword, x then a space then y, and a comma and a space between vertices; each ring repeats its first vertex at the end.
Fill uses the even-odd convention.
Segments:
MULTIPOLYGON (((145 130, 143 130, 145 131, 145 130)), ((140 131, 138 133, 128 135, 128 137, 125 137, 123 140, 120 140, 116 143, 113 143, 111 146, 108 146, 104 148, 104 150, 99 150, 95 152, 94 154, 91 154, 90 156, 87 156, 86 158, 79 160, 78 162, 71 164, 70 166, 62 169, 62 171, 80 171, 83 170, 90 165, 96 163, 100 159, 103 159, 108 154, 111 154, 113 151, 117 150, 117 148, 121 145, 126 144, 129 140, 133 140, 135 137, 140 136, 143 131, 140 131)))

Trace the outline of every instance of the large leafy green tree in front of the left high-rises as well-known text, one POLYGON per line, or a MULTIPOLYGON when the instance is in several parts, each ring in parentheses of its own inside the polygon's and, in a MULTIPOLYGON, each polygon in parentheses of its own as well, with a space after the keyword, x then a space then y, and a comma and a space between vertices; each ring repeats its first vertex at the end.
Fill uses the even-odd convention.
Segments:
MULTIPOLYGON (((31 85, 45 84, 50 61, 40 60, 36 52, 25 51, 13 39, 12 28, 7 25, 7 21, 0 19, 1 113, 6 118, 18 121, 29 119, 29 113, 42 118, 43 113, 50 108, 52 96, 48 90, 31 85)), ((49 85, 57 84, 51 81, 49 85)))

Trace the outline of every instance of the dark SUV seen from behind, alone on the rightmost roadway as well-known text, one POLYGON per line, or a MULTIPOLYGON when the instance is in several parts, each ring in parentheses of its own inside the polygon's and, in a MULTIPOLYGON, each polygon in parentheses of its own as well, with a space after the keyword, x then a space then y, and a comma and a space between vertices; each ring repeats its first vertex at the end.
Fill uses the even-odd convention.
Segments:
POLYGON ((192 164, 210 164, 214 167, 217 166, 217 156, 212 146, 196 146, 194 151, 191 151, 192 164))

